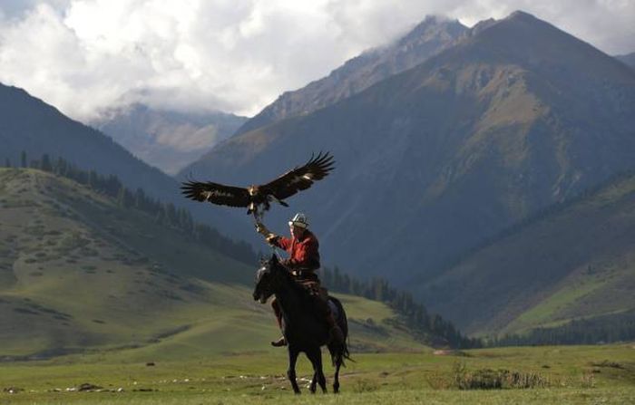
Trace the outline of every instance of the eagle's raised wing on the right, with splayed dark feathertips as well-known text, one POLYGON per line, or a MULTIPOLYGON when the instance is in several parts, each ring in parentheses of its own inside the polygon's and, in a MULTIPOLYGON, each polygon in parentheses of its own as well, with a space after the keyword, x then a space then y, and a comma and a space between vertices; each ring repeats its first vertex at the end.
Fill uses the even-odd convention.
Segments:
POLYGON ((314 181, 320 180, 328 176, 328 173, 334 168, 335 160, 328 152, 318 156, 311 155, 311 159, 302 167, 289 170, 287 173, 276 178, 259 188, 267 190, 268 194, 272 194, 278 199, 284 199, 293 196, 300 190, 311 187, 314 181))

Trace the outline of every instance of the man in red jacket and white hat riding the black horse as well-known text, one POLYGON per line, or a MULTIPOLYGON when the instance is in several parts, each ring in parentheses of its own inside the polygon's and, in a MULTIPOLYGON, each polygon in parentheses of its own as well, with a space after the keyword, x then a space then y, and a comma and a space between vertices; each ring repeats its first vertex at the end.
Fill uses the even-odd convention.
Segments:
MULTIPOLYGON (((262 236, 265 236, 267 243, 271 246, 277 246, 284 249, 288 253, 288 259, 281 262, 291 275, 294 275, 298 284, 305 287, 313 298, 313 303, 329 327, 331 342, 343 342, 344 335, 337 326, 335 317, 327 303, 327 298, 323 298, 320 294, 320 283, 316 271, 319 269, 319 243, 318 238, 308 230, 308 219, 302 213, 296 214, 288 221, 289 232, 291 237, 278 236, 271 232, 262 224, 258 224, 256 230, 262 236)), ((282 319, 278 306, 278 302, 274 298, 271 302, 278 327, 281 327, 282 319)), ((287 344, 284 336, 278 341, 271 342, 273 346, 284 346, 287 344)))

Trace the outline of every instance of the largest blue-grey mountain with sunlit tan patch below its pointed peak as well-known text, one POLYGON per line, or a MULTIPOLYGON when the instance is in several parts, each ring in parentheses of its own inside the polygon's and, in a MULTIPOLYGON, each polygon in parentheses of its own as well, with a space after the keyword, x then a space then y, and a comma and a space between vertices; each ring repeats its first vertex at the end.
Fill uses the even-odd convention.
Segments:
POLYGON ((346 99, 239 133, 186 170, 258 184, 330 150, 333 176, 269 223, 304 210, 328 262, 414 288, 504 228, 633 169, 634 110, 635 72, 515 12, 346 99))

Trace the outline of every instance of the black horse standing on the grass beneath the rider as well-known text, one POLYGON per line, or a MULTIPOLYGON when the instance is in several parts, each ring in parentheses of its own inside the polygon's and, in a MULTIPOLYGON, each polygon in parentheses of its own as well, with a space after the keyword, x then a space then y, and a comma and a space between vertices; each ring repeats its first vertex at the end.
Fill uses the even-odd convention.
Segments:
POLYGON ((305 352, 308 360, 313 365, 313 380, 310 391, 315 393, 316 384, 319 384, 323 392, 327 392, 327 379, 322 371, 321 346, 327 344, 328 352, 336 367, 333 391, 339 391, 339 368, 348 359, 346 338, 348 334, 347 314, 342 304, 333 297, 329 301, 335 304, 337 324, 344 334, 344 342, 341 344, 328 343, 328 326, 325 320, 319 319, 318 313, 313 309, 312 298, 304 287, 299 285, 288 270, 280 265, 275 254, 269 260, 262 262, 256 275, 256 288, 254 300, 265 304, 271 295, 275 294, 282 313, 282 333, 288 342, 288 371, 287 377, 291 381, 293 391, 300 393, 298 381, 296 381, 296 361, 298 354, 305 352))

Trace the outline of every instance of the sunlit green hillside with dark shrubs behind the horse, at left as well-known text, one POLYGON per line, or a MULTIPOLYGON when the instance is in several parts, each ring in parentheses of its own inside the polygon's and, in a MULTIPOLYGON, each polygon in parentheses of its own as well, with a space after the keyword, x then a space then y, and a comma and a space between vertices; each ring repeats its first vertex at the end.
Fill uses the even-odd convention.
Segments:
MULTIPOLYGON (((0 357, 120 349, 122 359, 265 349, 256 269, 65 178, 0 169, 0 357), (125 349, 124 351, 121 351, 125 349)), ((416 348, 384 304, 343 296, 353 347, 416 348)))

